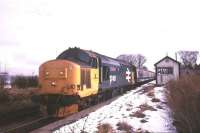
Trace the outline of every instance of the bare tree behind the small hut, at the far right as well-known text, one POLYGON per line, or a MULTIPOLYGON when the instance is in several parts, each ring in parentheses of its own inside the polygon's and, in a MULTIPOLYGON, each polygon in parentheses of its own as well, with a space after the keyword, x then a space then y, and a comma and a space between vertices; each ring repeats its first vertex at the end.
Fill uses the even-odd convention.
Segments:
POLYGON ((179 51, 178 52, 182 63, 186 67, 194 67, 198 58, 198 51, 179 51))

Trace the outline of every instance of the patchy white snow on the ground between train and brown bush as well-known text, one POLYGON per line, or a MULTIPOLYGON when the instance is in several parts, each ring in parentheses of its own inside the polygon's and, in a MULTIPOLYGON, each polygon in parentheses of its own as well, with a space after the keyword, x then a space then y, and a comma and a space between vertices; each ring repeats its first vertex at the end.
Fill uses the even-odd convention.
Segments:
POLYGON ((152 84, 154 82, 129 91, 109 105, 57 129, 54 133, 79 133, 81 130, 93 133, 98 130, 99 125, 106 123, 110 124, 116 132, 120 132, 117 126, 119 122, 131 125, 134 131, 175 133, 170 110, 165 103, 165 88, 151 87, 145 91, 144 88, 152 84), (139 112, 139 115, 136 112, 139 112))

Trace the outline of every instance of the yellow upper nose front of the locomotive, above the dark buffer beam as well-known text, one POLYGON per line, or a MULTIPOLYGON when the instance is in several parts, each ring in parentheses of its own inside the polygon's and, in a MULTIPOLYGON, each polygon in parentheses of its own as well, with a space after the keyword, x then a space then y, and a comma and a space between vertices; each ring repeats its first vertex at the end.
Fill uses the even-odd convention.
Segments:
POLYGON ((80 87, 80 66, 67 60, 53 60, 40 66, 40 94, 76 95, 80 87))

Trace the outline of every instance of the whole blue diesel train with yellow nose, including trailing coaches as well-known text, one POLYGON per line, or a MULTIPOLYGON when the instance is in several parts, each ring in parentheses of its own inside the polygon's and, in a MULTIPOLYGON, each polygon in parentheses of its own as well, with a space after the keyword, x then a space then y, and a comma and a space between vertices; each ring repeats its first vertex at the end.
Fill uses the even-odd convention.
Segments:
POLYGON ((45 106, 49 115, 66 117, 155 79, 148 72, 140 70, 138 80, 134 65, 91 50, 69 48, 39 67, 39 89, 32 100, 45 106))

